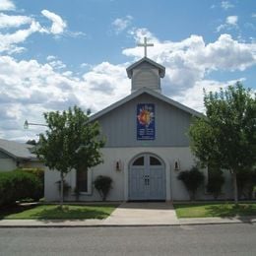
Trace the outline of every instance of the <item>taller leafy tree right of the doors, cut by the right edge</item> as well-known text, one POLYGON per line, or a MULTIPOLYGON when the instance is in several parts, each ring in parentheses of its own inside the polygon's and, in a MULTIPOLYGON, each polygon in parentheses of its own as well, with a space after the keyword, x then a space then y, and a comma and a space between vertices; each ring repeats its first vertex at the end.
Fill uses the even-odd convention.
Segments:
POLYGON ((202 163, 216 162, 230 171, 237 204, 236 175, 256 163, 255 94, 236 83, 204 95, 206 116, 195 118, 190 126, 191 149, 202 163))

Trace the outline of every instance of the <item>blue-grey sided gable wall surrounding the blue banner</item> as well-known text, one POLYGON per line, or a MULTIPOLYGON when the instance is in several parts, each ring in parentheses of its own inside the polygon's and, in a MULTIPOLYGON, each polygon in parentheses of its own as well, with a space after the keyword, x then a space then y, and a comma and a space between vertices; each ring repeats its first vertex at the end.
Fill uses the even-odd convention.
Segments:
POLYGON ((99 117, 101 131, 106 137, 105 147, 188 147, 186 133, 191 115, 143 94, 99 117), (137 141, 137 104, 155 104, 156 139, 137 141))

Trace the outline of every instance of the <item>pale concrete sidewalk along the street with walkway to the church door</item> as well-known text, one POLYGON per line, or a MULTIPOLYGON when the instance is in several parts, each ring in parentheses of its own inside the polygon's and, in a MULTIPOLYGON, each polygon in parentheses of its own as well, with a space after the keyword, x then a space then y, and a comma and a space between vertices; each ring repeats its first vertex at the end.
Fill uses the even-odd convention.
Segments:
POLYGON ((253 224, 256 217, 177 219, 170 203, 123 203, 105 220, 1 220, 0 227, 151 226, 253 224))

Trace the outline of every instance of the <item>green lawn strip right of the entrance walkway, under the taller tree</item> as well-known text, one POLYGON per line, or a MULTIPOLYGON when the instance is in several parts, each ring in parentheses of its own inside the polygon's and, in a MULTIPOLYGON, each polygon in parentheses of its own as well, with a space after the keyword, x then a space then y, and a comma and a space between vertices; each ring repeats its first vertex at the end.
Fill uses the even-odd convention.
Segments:
POLYGON ((255 204, 174 204, 178 218, 256 216, 255 204))

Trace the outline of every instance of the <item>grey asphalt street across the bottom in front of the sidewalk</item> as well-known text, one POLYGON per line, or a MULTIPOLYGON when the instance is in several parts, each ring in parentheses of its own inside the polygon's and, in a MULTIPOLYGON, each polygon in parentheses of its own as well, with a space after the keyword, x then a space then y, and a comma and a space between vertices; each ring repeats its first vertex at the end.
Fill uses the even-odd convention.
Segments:
POLYGON ((256 224, 0 228, 0 255, 256 255, 256 224))

